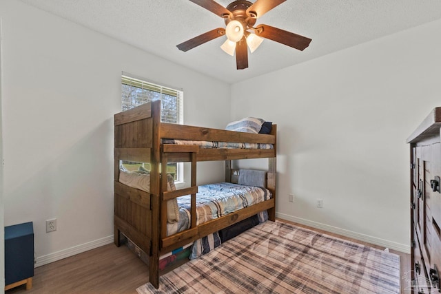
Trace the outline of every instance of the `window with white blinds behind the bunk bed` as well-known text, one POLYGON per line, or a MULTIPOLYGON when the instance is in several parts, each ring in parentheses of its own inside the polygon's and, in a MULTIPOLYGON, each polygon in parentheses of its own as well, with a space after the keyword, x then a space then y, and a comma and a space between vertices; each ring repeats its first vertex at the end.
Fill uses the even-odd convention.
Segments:
MULTIPOLYGON (((161 121, 163 123, 183 124, 183 94, 182 90, 143 81, 140 78, 134 78, 125 73, 121 77, 122 110, 161 99, 161 121)), ((140 165, 150 170, 149 164, 123 162, 123 166, 128 170, 139 169, 140 165)), ((167 165, 167 172, 174 175, 175 181, 183 182, 182 163, 169 163, 167 165)))

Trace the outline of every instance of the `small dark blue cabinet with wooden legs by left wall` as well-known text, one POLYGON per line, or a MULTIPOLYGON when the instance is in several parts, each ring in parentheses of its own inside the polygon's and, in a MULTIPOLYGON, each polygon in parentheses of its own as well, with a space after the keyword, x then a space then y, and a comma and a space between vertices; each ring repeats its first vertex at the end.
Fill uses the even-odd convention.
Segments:
POLYGON ((34 276, 34 228, 32 222, 5 227, 5 290, 26 284, 34 276))

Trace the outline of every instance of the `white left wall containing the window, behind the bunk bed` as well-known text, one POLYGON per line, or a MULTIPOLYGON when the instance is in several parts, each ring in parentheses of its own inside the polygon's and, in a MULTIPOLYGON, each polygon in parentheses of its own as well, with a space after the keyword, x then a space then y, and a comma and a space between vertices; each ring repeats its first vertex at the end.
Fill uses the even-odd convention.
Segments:
MULTIPOLYGON (((229 85, 19 1, 2 0, 0 17, 5 225, 34 222, 41 265, 112 242, 122 71, 183 88, 190 125, 227 124, 229 85)), ((198 180, 221 180, 216 165, 198 180)))

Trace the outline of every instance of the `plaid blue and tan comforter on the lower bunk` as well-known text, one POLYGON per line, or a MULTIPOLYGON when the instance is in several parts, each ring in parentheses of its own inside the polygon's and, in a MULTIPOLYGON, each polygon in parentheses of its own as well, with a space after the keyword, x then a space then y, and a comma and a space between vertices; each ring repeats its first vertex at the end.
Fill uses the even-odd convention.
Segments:
MULTIPOLYGON (((203 224, 271 197, 267 189, 230 182, 199 186, 196 194, 196 224, 203 224)), ((191 196, 179 197, 178 204, 179 222, 167 224, 167 235, 189 229, 191 196)))

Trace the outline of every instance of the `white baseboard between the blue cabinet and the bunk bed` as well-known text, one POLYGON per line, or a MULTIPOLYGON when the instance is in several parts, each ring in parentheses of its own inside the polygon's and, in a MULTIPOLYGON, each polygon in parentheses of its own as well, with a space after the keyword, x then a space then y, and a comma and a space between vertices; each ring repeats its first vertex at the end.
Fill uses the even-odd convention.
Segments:
POLYGON ((39 256, 35 260, 35 267, 39 267, 45 264, 50 264, 51 262, 56 262, 57 260, 62 260, 63 258, 68 258, 70 256, 83 253, 85 251, 89 251, 110 244, 112 242, 113 242, 113 235, 110 235, 108 237, 94 240, 92 242, 73 246, 68 249, 50 253, 48 255, 39 256))

